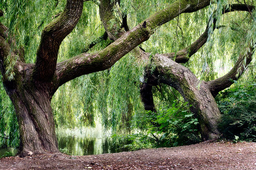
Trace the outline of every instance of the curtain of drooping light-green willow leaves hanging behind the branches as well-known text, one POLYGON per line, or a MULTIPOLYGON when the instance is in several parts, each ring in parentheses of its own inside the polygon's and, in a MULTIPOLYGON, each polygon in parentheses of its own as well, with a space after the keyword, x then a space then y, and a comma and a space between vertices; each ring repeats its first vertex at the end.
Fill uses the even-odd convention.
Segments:
MULTIPOLYGON (((63 11, 65 0, 1 0, 4 18, 0 22, 10 28, 17 50, 24 49, 27 62, 35 62, 36 50, 44 26, 58 17, 63 11)), ((133 28, 155 11, 165 8, 173 0, 120 0, 115 13, 119 18, 127 15, 128 26, 133 28)), ((212 14, 217 13, 218 29, 209 29, 209 39, 204 48, 193 55, 185 65, 202 80, 220 77, 233 67, 241 51, 246 51, 256 42, 256 12, 234 12, 221 14, 227 4, 235 0, 213 0, 212 5, 191 14, 181 14, 157 30, 141 47, 151 54, 177 52, 194 42, 207 25, 212 26, 212 14), (253 18, 253 19, 252 19, 253 18)), ((256 5, 253 0, 245 3, 256 5)), ((111 21, 113 22, 122 22, 111 21)), ((99 18, 99 1, 84 2, 84 11, 75 29, 61 44, 58 61, 71 58, 81 52, 93 53, 105 48, 111 40, 99 40, 105 30, 99 18), (89 49, 91 42, 98 43, 89 49)), ((23 51, 20 51, 23 53, 23 51)), ((15 62, 15 61, 14 61, 15 62)), ((143 78, 143 65, 140 58, 130 53, 120 59, 111 69, 74 79, 61 86, 52 98, 55 124, 58 127, 94 126, 99 118, 106 129, 113 132, 129 131, 131 120, 144 111, 140 101, 140 83, 143 78)), ((252 64, 253 66, 254 64, 252 64)), ((253 67, 249 69, 253 70, 253 67)), ((8 76, 13 77, 12 65, 8 76)), ((14 108, 0 87, 1 119, 0 135, 8 136, 10 146, 18 144, 18 130, 14 108), (12 134, 13 133, 13 134, 12 134), (15 139, 15 140, 11 140, 15 139), (10 143, 15 141, 15 143, 10 143)), ((181 100, 180 95, 166 85, 153 89, 157 110, 169 108, 173 100, 181 100)), ((3 144, 0 137, 0 145, 3 144)))

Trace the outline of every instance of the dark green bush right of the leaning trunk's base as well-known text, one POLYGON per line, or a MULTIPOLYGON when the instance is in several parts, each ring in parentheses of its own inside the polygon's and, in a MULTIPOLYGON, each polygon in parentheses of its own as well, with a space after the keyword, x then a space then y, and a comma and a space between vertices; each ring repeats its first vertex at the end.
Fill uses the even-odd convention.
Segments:
POLYGON ((216 101, 223 114, 218 125, 223 137, 256 142, 256 83, 236 84, 221 92, 216 101))

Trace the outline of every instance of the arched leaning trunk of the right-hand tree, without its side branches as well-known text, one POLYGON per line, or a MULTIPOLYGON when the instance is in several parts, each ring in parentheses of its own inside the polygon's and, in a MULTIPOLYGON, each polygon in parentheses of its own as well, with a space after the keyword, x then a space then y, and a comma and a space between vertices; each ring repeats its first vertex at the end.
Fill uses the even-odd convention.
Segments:
MULTIPOLYGON (((205 141, 218 137, 217 123, 221 114, 209 86, 204 81, 200 84, 200 81, 188 68, 163 55, 156 55, 154 63, 156 64, 155 71, 151 73, 150 68, 146 71, 147 85, 165 83, 175 88, 184 100, 192 105, 190 110, 198 118, 202 139, 205 141)), ((143 87, 145 88, 145 84, 143 87)), ((145 109, 154 107, 148 106, 152 104, 151 98, 143 99, 143 101, 148 101, 144 103, 145 109)))

